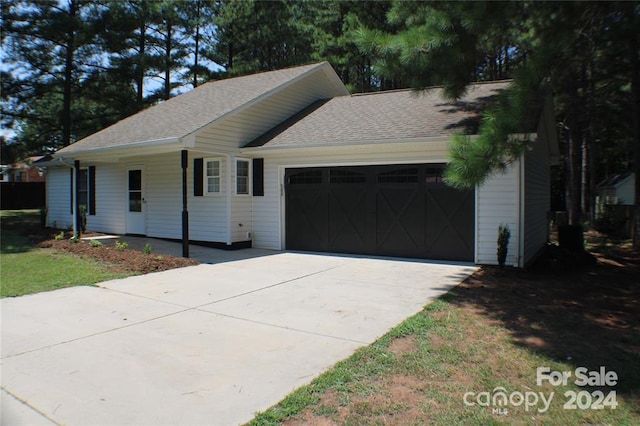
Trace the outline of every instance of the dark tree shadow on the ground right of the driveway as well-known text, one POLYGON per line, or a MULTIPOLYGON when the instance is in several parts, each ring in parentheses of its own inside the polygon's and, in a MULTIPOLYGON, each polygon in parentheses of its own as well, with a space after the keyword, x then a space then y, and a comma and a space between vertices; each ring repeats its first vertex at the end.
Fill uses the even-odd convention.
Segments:
POLYGON ((593 266, 555 273, 485 267, 446 298, 480 310, 516 344, 554 361, 615 371, 613 389, 639 407, 640 254, 596 257, 593 266))

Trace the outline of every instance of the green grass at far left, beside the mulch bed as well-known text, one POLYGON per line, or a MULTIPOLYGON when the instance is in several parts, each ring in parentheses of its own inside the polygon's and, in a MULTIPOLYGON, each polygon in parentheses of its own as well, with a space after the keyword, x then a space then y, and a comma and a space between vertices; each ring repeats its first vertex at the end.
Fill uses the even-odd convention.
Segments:
POLYGON ((1 297, 93 285, 131 275, 90 259, 37 248, 35 241, 42 233, 38 210, 2 210, 0 220, 1 297))

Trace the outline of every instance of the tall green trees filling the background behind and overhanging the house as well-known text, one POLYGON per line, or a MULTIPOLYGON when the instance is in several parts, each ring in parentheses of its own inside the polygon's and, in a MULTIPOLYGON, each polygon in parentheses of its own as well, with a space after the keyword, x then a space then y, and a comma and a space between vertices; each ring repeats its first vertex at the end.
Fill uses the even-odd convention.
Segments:
POLYGON ((600 179, 626 169, 640 179, 637 1, 5 0, 1 7, 2 139, 12 156, 56 150, 211 79, 326 60, 352 92, 441 85, 455 99, 471 82, 512 79, 480 134, 452 141, 453 186, 481 184, 525 152, 531 141, 514 135, 548 94, 562 145, 558 198, 571 222, 593 218, 600 179))

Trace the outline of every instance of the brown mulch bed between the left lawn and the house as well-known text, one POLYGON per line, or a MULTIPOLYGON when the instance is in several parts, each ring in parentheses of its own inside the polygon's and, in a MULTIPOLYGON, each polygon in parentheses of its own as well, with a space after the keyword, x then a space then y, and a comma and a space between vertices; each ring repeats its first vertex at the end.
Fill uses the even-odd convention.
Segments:
POLYGON ((65 253, 72 253, 84 258, 96 259, 112 265, 115 268, 148 274, 150 272, 166 271, 169 269, 183 268, 199 264, 193 259, 175 257, 165 254, 149 253, 142 251, 123 249, 115 247, 99 246, 94 247, 88 241, 74 243, 68 238, 63 240, 45 239, 38 244, 41 248, 51 248, 65 253))

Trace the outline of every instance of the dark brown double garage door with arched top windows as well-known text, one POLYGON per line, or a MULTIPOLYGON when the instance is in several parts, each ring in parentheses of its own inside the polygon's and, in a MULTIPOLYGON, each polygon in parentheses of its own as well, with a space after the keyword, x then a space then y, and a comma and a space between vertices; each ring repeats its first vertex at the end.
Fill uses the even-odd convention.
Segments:
POLYGON ((287 169, 287 249, 473 261, 474 192, 446 186, 443 169, 287 169))

